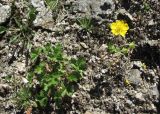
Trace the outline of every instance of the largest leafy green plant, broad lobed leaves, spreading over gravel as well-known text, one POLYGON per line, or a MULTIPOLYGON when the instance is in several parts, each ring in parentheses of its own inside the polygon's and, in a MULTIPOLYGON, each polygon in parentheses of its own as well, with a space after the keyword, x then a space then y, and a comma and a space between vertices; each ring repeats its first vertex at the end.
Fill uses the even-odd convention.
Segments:
POLYGON ((47 107, 50 103, 61 106, 63 98, 74 92, 74 85, 83 76, 84 58, 72 58, 63 53, 61 44, 50 43, 31 51, 32 67, 28 83, 18 92, 20 107, 47 107), (24 95, 25 94, 25 95, 24 95))

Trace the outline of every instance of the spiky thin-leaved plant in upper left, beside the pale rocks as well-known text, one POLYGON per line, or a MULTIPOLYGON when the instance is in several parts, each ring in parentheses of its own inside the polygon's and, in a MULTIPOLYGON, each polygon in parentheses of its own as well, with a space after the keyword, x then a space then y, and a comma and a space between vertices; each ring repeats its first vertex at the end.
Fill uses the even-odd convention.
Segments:
POLYGON ((31 48, 31 40, 34 36, 33 32, 33 21, 36 18, 36 9, 28 5, 28 9, 25 19, 20 15, 20 9, 14 7, 15 13, 11 17, 10 21, 12 26, 8 28, 8 31, 11 32, 9 43, 11 45, 18 45, 19 43, 23 44, 24 49, 31 48))

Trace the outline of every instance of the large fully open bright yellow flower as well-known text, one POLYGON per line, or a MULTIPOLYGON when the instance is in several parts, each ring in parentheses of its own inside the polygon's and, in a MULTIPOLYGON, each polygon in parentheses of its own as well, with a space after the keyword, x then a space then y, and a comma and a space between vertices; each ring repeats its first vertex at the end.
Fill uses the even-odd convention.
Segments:
POLYGON ((110 25, 110 28, 111 28, 111 32, 114 35, 116 35, 116 36, 121 35, 121 36, 125 37, 127 30, 129 29, 129 26, 123 20, 117 20, 116 22, 113 22, 110 25))

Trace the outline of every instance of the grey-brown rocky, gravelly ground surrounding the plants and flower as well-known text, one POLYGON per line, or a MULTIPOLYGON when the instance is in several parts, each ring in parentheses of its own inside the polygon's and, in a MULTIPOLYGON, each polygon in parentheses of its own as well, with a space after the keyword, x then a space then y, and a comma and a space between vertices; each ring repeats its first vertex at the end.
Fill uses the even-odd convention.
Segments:
POLYGON ((56 12, 43 0, 13 2, 0 0, 0 25, 13 29, 0 34, 1 114, 23 113, 14 105, 13 96, 25 83, 28 50, 23 49, 23 42, 10 42, 16 31, 13 18, 18 15, 25 22, 28 4, 36 8, 32 46, 61 42, 65 53, 83 56, 87 61, 85 76, 64 109, 44 114, 160 113, 158 0, 59 0, 56 12), (94 29, 85 31, 77 24, 83 17, 91 18, 94 29), (107 51, 110 41, 125 43, 111 33, 109 24, 115 20, 125 20, 129 25, 125 41, 134 41, 136 47, 128 55, 107 51))

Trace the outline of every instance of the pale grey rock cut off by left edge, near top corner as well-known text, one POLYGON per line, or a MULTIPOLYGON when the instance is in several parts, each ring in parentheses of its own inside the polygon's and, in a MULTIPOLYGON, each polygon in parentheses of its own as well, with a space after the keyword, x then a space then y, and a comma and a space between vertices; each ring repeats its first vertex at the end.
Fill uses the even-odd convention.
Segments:
POLYGON ((11 16, 11 7, 9 5, 0 4, 0 24, 6 22, 11 16))

